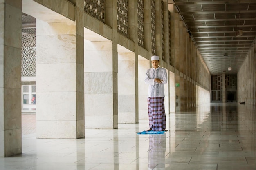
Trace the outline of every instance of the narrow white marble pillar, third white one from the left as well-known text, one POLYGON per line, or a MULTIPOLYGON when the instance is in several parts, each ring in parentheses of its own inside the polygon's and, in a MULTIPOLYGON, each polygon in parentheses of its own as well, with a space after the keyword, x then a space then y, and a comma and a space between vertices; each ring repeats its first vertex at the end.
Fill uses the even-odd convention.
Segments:
POLYGON ((118 53, 118 123, 136 123, 134 53, 118 53))

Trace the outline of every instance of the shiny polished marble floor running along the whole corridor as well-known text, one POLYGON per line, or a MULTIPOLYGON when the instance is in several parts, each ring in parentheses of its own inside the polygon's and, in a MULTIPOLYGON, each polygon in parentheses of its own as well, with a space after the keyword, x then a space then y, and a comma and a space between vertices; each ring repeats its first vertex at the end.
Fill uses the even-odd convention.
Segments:
POLYGON ((166 119, 164 134, 137 135, 148 128, 140 120, 83 139, 36 139, 22 124, 22 154, 0 158, 0 170, 256 170, 255 106, 211 103, 166 119))

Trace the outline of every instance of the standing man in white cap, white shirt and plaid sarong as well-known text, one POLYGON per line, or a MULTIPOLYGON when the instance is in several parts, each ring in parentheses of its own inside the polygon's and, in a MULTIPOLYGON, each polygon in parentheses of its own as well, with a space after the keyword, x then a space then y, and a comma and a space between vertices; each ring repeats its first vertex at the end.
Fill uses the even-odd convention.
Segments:
POLYGON ((152 68, 146 71, 145 83, 148 87, 148 119, 149 129, 146 131, 166 130, 166 117, 164 110, 164 84, 167 83, 167 73, 159 67, 159 56, 151 57, 152 68))

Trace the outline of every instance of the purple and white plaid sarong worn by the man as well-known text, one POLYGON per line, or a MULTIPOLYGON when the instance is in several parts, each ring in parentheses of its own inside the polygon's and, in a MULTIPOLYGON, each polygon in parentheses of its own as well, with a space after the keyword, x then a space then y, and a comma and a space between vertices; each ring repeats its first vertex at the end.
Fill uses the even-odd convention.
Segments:
POLYGON ((148 97, 148 119, 152 130, 166 129, 164 97, 148 97))

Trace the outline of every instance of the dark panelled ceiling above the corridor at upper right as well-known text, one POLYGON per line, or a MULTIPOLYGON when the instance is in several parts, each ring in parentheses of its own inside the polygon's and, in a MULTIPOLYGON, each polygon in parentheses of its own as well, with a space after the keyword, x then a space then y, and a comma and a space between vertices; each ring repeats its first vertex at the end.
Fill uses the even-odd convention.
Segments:
POLYGON ((237 74, 256 38, 256 0, 169 0, 168 3, 175 4, 210 73, 237 74))

